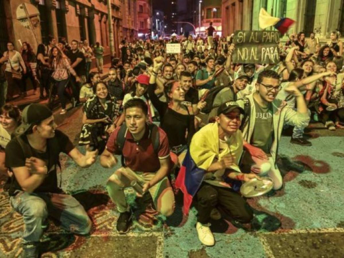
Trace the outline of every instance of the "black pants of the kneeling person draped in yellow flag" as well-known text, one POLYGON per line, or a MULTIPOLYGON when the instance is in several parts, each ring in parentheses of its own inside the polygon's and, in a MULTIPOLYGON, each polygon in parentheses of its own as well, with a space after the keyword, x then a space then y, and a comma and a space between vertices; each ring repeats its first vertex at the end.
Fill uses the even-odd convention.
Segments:
POLYGON ((230 188, 203 182, 196 196, 197 221, 202 224, 209 222, 210 213, 217 206, 241 223, 249 223, 253 218, 253 211, 246 200, 230 188))

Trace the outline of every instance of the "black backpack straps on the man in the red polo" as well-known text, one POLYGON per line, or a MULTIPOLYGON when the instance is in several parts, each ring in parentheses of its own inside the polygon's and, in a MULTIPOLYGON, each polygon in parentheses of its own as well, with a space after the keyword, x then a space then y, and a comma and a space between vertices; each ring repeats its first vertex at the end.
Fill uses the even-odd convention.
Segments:
MULTIPOLYGON (((160 145, 160 139, 159 139, 160 136, 159 136, 158 126, 154 125, 154 123, 148 123, 148 129, 149 129, 149 137, 151 138, 152 143, 153 143, 154 152, 155 154, 158 155, 159 145, 160 145)), ((121 162, 122 162, 123 167, 126 166, 124 156, 123 156, 123 147, 126 141, 126 132, 127 132, 127 125, 126 123, 123 123, 116 137, 118 150, 121 152, 121 162)))

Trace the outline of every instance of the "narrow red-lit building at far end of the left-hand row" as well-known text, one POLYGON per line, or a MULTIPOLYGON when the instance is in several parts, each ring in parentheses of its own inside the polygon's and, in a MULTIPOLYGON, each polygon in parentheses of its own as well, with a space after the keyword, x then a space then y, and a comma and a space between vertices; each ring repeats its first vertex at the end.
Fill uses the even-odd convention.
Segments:
POLYGON ((138 35, 148 39, 152 29, 152 1, 138 0, 138 35))

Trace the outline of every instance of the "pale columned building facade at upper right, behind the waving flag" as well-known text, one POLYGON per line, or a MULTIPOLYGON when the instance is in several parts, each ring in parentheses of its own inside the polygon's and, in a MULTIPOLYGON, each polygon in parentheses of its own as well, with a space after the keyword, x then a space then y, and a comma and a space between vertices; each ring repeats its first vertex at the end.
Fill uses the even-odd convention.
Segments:
POLYGON ((303 31, 309 36, 315 32, 324 42, 331 31, 338 30, 344 35, 344 0, 222 0, 223 34, 259 30, 260 8, 274 17, 295 20, 289 33, 303 31))

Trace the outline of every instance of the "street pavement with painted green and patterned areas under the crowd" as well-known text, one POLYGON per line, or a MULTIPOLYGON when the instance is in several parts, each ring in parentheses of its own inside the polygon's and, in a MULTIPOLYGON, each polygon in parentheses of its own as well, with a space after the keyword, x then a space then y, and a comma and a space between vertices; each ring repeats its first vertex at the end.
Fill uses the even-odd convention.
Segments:
MULTIPOLYGON (((78 108, 55 116, 59 129, 74 143, 82 125, 81 115, 78 108)), ((62 188, 85 206, 94 225, 90 236, 81 237, 50 221, 42 239, 46 243, 43 257, 344 257, 344 130, 330 132, 313 123, 306 132, 311 147, 291 144, 288 131, 282 137, 278 165, 284 187, 274 195, 248 200, 255 212, 252 228, 240 228, 226 217, 212 221, 214 247, 205 247, 198 240, 194 208, 188 218, 183 217, 180 193, 171 217, 155 217, 146 211, 146 221, 154 220, 154 225, 136 219, 130 234, 118 235, 118 213, 105 184, 119 164, 104 169, 97 160, 90 168, 80 169, 61 155, 62 188)), ((126 194, 135 206, 133 191, 128 189, 126 194)), ((0 214, 0 257, 17 257, 23 223, 11 210, 5 192, 0 192, 0 214)))

